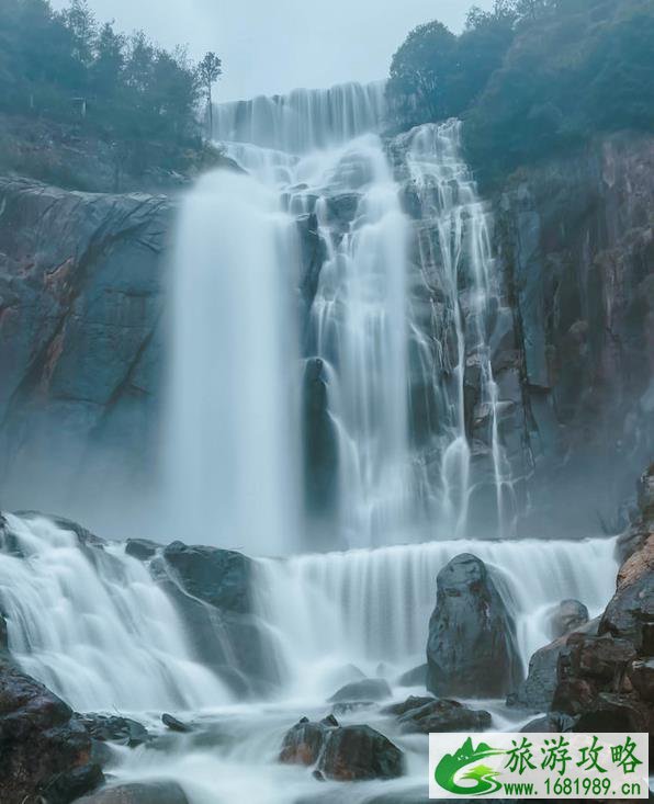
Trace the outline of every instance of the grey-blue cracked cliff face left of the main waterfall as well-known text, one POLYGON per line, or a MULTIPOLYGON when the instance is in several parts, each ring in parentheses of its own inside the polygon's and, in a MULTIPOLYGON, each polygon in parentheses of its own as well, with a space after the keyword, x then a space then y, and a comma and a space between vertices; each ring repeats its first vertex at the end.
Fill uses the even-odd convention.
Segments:
POLYGON ((162 196, 0 178, 4 505, 60 510, 76 488, 67 513, 137 526, 158 437, 170 222, 162 196))

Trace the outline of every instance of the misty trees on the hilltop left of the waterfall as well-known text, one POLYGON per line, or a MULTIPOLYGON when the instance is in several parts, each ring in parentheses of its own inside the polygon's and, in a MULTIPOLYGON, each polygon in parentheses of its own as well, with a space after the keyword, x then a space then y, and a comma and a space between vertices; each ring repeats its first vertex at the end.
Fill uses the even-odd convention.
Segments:
POLYGON ((86 0, 61 12, 48 0, 0 2, 0 111, 182 145, 198 141, 202 80, 183 48, 100 25, 86 0))

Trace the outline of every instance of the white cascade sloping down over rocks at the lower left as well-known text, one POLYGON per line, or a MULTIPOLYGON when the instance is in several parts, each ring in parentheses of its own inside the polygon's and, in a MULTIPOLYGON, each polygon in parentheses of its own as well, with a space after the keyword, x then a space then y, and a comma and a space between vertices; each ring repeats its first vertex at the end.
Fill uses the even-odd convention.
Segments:
POLYGON ((7 514, 0 609, 22 668, 81 712, 215 706, 229 700, 196 664, 181 620, 122 545, 84 547, 52 521, 7 514))

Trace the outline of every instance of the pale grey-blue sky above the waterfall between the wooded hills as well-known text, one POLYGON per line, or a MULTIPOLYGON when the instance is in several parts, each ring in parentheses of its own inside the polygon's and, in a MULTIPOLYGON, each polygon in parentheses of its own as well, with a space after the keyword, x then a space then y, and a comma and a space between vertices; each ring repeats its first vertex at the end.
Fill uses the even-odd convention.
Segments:
MULTIPOLYGON (((67 0, 54 0, 55 8, 67 0)), ((384 78, 410 29, 441 20, 463 26, 474 0, 89 0, 124 32, 161 45, 215 50, 225 75, 216 100, 384 78)), ((492 0, 476 0, 489 8, 492 0)))

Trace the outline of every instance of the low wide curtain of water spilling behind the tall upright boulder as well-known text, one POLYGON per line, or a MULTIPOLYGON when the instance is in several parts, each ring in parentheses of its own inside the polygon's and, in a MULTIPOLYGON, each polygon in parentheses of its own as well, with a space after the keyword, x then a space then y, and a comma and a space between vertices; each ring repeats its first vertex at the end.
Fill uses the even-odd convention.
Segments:
POLYGON ((383 663, 391 680, 422 664, 436 577, 461 553, 478 556, 494 575, 516 620, 525 666, 552 638, 549 613, 555 603, 580 600, 594 618, 614 588, 612 539, 456 540, 261 560, 258 607, 277 635, 290 689, 329 693, 352 664, 374 676, 383 663))

